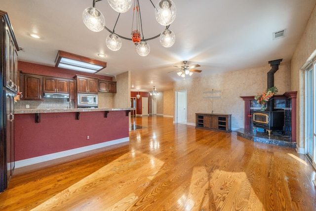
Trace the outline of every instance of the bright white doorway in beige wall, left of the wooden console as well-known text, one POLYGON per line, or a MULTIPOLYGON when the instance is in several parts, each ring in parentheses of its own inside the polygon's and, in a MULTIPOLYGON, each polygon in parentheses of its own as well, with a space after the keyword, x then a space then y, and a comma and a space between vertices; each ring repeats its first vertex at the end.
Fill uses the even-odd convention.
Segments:
POLYGON ((187 90, 175 93, 175 123, 187 123, 187 90))

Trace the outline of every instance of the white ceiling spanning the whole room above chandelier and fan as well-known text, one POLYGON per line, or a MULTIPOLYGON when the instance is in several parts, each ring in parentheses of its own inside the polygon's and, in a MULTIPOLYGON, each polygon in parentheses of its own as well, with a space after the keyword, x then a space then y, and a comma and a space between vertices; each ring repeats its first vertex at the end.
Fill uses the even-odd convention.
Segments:
MULTIPOLYGON (((158 0, 152 0, 154 4, 158 0)), ((174 81, 183 80, 176 73, 183 60, 199 64, 200 77, 228 71, 268 65, 282 58, 289 61, 302 36, 316 0, 174 0, 177 16, 170 28, 176 42, 169 48, 159 39, 148 41, 151 51, 142 57, 131 41, 122 40, 119 51, 105 44, 109 32, 92 32, 82 22, 82 11, 93 0, 0 0, 6 11, 17 42, 24 52, 19 60, 54 66, 58 50, 107 62, 99 75, 116 76, 131 72, 132 91, 172 89, 174 81), (285 38, 273 40, 273 32, 286 29, 285 38), (36 40, 29 33, 37 33, 36 40), (105 58, 97 56, 106 54, 105 58), (175 71, 171 72, 170 71, 175 71), (153 82, 153 84, 151 84, 153 82)), ((106 18, 106 26, 114 27, 118 13, 107 0, 96 2, 106 18)), ((164 29, 155 20, 150 0, 140 0, 144 37, 160 34, 164 29)), ((132 10, 122 13, 115 32, 129 37, 132 10)), ((268 70, 269 71, 269 70, 268 70)))

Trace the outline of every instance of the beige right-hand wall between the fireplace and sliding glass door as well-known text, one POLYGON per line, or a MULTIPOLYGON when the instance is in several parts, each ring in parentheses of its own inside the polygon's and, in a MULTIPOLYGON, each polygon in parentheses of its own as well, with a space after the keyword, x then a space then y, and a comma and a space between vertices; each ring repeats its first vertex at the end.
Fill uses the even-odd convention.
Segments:
POLYGON ((304 124, 304 70, 303 65, 315 57, 316 50, 316 7, 310 16, 306 29, 297 45, 291 60, 291 90, 298 91, 296 140, 299 152, 304 153, 305 124, 304 124))

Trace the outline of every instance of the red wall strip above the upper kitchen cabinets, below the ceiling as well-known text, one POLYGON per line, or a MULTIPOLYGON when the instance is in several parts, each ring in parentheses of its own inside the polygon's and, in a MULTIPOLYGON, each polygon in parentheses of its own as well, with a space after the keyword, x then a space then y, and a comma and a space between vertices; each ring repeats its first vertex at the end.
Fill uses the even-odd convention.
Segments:
POLYGON ((53 76, 60 78, 74 78, 76 75, 90 76, 99 79, 113 81, 112 77, 109 76, 101 76, 92 73, 84 73, 80 71, 68 70, 59 67, 50 67, 39 64, 33 64, 29 62, 19 61, 19 70, 23 73, 36 74, 36 75, 44 75, 44 76, 53 76))

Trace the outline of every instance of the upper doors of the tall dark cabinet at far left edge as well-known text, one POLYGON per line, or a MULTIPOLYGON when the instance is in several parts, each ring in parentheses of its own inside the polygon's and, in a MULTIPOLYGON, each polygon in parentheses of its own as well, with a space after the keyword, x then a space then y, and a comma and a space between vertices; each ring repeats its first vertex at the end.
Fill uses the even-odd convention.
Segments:
POLYGON ((1 68, 3 71, 3 86, 11 89, 14 92, 19 91, 19 75, 18 75, 18 44, 16 42, 13 30, 10 25, 9 18, 6 12, 0 10, 1 17, 1 48, 0 56, 4 59, 4 64, 1 68), (4 52, 2 51, 4 50, 4 52))

